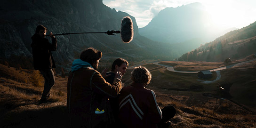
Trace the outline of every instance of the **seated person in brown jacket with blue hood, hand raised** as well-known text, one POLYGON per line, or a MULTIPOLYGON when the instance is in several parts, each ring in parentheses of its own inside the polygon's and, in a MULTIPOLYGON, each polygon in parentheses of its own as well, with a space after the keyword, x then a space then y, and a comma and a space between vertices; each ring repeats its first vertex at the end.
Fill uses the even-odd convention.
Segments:
POLYGON ((120 72, 112 85, 96 71, 102 52, 88 48, 80 59, 72 63, 67 84, 67 108, 72 128, 108 128, 113 123, 108 98, 116 97, 121 90, 120 72))

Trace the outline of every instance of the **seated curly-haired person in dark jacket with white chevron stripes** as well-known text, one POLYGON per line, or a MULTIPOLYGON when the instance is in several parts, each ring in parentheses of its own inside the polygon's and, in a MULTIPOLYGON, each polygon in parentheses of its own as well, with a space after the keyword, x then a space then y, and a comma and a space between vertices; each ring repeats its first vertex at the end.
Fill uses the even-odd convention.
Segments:
POLYGON ((145 67, 138 66, 132 71, 133 83, 121 89, 119 118, 124 125, 122 128, 163 128, 164 123, 176 114, 171 105, 162 109, 162 114, 154 91, 145 88, 151 79, 151 73, 145 67))

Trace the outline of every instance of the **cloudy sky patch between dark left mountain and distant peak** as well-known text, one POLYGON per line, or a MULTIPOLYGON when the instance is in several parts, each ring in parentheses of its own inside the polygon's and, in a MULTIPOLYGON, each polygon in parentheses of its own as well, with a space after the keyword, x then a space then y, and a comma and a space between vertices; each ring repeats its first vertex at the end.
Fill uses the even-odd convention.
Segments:
POLYGON ((157 16, 162 9, 180 6, 179 1, 180 0, 103 0, 103 3, 108 7, 115 8, 117 11, 127 12, 129 15, 136 17, 138 26, 144 27, 154 16, 157 16))

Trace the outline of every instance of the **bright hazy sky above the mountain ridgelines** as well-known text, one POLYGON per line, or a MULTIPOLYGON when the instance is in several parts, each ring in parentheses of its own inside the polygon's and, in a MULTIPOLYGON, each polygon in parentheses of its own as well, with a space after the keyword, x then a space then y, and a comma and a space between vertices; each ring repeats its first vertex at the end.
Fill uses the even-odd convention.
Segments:
POLYGON ((164 8, 193 2, 200 2, 219 27, 242 28, 256 21, 256 0, 103 0, 106 6, 134 16, 139 28, 164 8))

